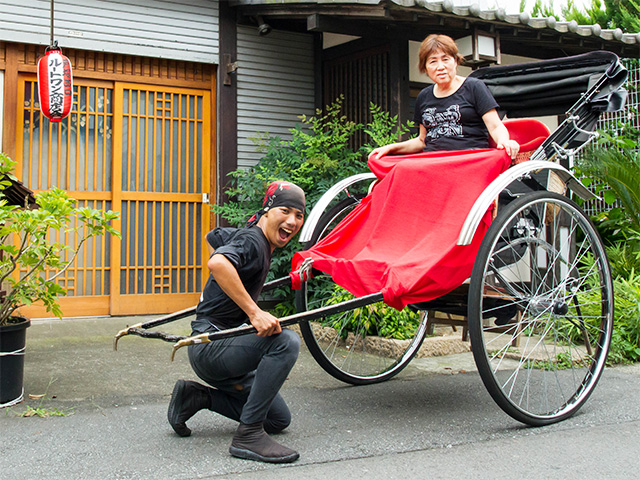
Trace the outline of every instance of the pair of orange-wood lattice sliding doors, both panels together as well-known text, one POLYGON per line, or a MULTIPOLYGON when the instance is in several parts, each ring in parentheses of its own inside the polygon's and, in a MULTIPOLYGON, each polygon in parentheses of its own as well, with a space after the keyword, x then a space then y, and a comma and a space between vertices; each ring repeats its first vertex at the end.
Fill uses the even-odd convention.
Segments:
MULTIPOLYGON (((162 313, 197 302, 209 228, 210 92, 74 80, 70 115, 40 114, 35 76, 18 84, 17 173, 32 190, 67 190, 121 212, 59 282, 65 316, 162 313), (23 101, 22 101, 23 100, 23 101)), ((73 243, 73 233, 60 239, 73 243)), ((32 306, 24 314, 49 316, 32 306)))

